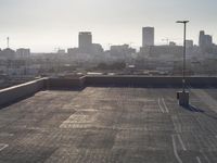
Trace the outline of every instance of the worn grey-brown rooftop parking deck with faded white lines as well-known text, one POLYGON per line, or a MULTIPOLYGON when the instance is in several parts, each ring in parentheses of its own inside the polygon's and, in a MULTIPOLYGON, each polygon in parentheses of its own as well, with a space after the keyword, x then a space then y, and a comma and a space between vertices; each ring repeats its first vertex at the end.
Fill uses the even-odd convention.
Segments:
POLYGON ((217 91, 87 87, 0 110, 0 162, 216 163, 217 91))

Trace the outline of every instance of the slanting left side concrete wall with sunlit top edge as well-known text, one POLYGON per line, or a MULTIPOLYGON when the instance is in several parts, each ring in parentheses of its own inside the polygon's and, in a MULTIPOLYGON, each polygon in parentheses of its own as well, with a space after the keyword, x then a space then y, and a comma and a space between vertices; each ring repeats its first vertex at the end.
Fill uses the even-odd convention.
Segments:
POLYGON ((33 80, 26 84, 17 85, 14 87, 5 88, 0 90, 0 106, 10 104, 12 102, 15 102, 20 99, 27 98, 28 96, 31 96, 36 93, 37 91, 40 91, 44 88, 44 80, 37 79, 33 80))

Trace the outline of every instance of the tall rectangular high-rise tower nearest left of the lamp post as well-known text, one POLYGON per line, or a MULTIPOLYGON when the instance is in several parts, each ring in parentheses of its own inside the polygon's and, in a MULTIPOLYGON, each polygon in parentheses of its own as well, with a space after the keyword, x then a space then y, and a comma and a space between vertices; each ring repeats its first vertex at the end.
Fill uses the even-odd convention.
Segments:
POLYGON ((154 46, 154 27, 142 28, 142 47, 154 46))

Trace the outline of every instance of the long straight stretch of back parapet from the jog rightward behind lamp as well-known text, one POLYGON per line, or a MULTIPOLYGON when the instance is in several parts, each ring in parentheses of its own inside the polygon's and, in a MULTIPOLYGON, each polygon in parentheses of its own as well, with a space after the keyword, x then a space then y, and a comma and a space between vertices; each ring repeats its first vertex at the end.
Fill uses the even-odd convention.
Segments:
MULTIPOLYGON (((86 86, 181 87, 182 77, 86 76, 86 86)), ((217 86, 216 77, 187 77, 191 87, 217 86)))

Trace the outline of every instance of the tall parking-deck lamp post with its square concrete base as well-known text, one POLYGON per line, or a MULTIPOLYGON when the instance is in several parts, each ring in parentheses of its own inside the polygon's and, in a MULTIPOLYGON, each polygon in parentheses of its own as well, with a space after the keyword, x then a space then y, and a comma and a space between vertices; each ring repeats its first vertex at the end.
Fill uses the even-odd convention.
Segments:
POLYGON ((189 92, 186 91, 186 53, 187 53, 187 48, 186 48, 186 35, 187 35, 187 23, 189 21, 177 21, 176 23, 181 23, 183 24, 183 67, 182 67, 182 92, 177 92, 177 98, 179 99, 179 104, 180 105, 189 105, 189 92))

